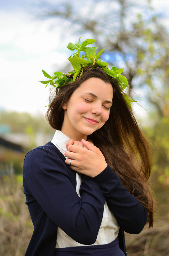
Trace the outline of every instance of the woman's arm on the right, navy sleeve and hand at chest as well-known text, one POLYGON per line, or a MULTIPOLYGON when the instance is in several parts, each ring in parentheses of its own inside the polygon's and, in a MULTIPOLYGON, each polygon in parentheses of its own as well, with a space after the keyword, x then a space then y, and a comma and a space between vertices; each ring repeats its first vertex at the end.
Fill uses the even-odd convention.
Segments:
MULTIPOLYGON (((70 144, 65 155, 74 159, 72 169, 93 178, 101 187, 110 211, 115 215, 121 228, 138 234, 147 221, 147 211, 121 184, 120 178, 106 164, 101 151, 89 142, 82 141, 88 150, 70 144)), ((69 163, 70 159, 66 162, 69 163)), ((87 179, 87 176, 86 176, 87 179)))

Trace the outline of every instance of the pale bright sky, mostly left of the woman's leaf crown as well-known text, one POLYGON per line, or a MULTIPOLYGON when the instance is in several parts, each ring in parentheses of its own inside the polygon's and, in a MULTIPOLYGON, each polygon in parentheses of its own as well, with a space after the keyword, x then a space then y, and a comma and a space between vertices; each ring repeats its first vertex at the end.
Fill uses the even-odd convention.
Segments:
MULTIPOLYGON (((56 2, 0 1, 0 110, 46 112, 49 89, 38 82, 46 80, 42 69, 50 75, 53 69, 63 71, 70 55, 66 46, 71 38, 63 37, 61 22, 54 27, 53 19, 39 18, 42 3, 47 6, 56 2)), ((167 2, 153 0, 152 4, 167 15, 167 2)))

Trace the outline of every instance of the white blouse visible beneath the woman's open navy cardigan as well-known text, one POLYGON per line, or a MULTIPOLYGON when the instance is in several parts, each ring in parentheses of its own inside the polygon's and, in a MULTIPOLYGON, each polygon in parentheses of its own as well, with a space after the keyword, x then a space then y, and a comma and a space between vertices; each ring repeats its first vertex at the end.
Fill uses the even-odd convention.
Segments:
MULTIPOLYGON (((70 138, 63 134, 61 131, 56 130, 52 143, 60 150, 60 152, 64 155, 66 149, 66 143, 70 138)), ((81 175, 76 173, 76 192, 78 196, 79 189, 81 185, 81 175)), ((94 244, 109 244, 110 242, 114 241, 118 236, 119 232, 119 225, 116 221, 115 216, 113 213, 110 212, 107 203, 104 204, 104 212, 102 223, 97 235, 97 239, 94 244)), ((74 241, 71 237, 69 237, 60 227, 58 227, 57 233, 57 240, 56 240, 56 248, 63 248, 63 247, 74 247, 74 246, 84 246, 85 244, 80 244, 74 241)))

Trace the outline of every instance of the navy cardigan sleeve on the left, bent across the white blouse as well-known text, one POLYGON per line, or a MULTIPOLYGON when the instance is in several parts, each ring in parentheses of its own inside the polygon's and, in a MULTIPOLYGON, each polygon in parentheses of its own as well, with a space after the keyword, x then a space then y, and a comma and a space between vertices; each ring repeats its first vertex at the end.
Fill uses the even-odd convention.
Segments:
POLYGON ((81 244, 95 242, 105 203, 97 182, 84 180, 79 197, 65 162, 41 147, 25 157, 23 185, 68 236, 81 244))

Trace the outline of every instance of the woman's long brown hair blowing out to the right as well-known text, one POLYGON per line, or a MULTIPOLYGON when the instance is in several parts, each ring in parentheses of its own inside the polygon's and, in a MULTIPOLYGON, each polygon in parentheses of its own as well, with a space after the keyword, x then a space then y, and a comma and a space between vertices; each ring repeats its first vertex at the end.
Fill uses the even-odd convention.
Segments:
POLYGON ((153 199, 147 185, 151 173, 151 151, 149 142, 140 130, 132 109, 124 99, 124 92, 115 79, 101 68, 89 68, 75 82, 57 88, 49 99, 46 119, 57 130, 61 130, 64 120, 63 104, 80 84, 91 78, 102 79, 113 87, 113 105, 110 115, 102 128, 88 135, 104 155, 106 162, 121 178, 121 183, 131 195, 147 209, 149 227, 153 225, 153 199))

